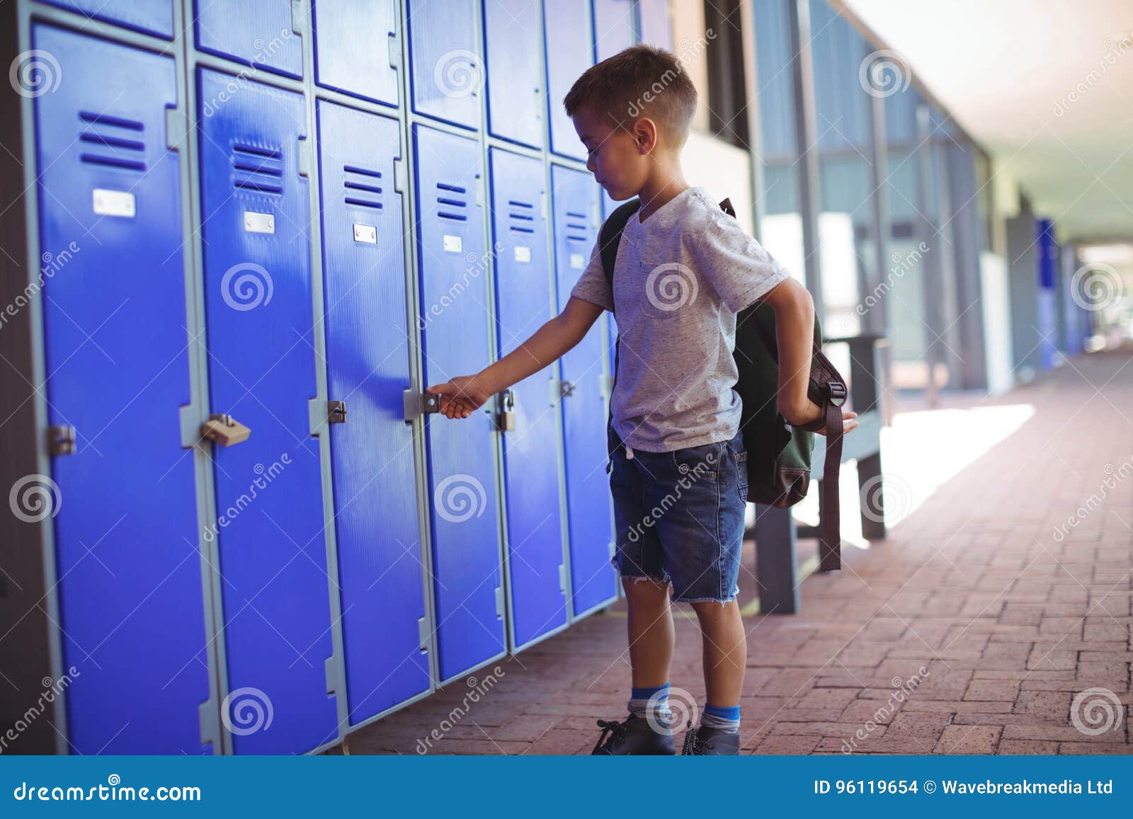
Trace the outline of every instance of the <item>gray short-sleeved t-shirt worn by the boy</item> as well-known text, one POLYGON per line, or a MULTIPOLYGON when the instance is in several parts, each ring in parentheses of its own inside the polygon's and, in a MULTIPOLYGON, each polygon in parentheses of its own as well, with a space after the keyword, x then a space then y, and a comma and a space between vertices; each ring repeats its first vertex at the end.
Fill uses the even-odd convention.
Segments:
MULTIPOLYGON (((790 276, 700 187, 625 224, 614 265, 614 430, 627 446, 671 452, 731 441, 740 428, 735 314, 790 276)), ((595 244, 571 296, 613 310, 595 244)))

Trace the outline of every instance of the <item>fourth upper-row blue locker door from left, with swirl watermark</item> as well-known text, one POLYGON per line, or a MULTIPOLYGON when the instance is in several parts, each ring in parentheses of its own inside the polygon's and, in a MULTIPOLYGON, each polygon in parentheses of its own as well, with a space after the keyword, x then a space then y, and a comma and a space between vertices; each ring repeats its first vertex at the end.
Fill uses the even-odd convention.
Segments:
POLYGON ((480 127, 484 59, 476 0, 409 0, 414 111, 465 128, 480 127))

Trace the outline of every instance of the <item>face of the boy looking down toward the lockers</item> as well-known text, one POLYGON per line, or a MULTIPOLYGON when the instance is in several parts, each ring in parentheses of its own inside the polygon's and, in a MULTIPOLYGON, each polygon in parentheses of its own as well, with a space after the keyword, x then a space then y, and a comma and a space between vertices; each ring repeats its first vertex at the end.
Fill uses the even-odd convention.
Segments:
POLYGON ((649 151, 656 144, 655 129, 640 126, 653 121, 639 118, 617 125, 586 109, 571 120, 586 146, 586 168, 595 180, 615 202, 637 196, 649 174, 649 151))

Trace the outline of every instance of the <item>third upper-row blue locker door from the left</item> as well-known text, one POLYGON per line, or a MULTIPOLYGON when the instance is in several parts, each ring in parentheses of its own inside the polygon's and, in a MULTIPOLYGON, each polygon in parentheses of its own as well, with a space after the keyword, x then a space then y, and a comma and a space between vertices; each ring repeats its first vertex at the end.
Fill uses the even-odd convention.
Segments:
POLYGON ((393 0, 312 0, 315 82, 398 104, 398 9, 393 0))

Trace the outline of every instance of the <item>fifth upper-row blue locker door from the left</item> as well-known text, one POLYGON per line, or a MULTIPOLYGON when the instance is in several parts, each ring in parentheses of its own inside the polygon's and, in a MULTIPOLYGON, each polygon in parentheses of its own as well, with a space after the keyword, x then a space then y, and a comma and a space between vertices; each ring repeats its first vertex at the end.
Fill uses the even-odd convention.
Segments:
POLYGON ((539 9, 530 0, 484 0, 488 129, 501 139, 543 147, 539 9))

